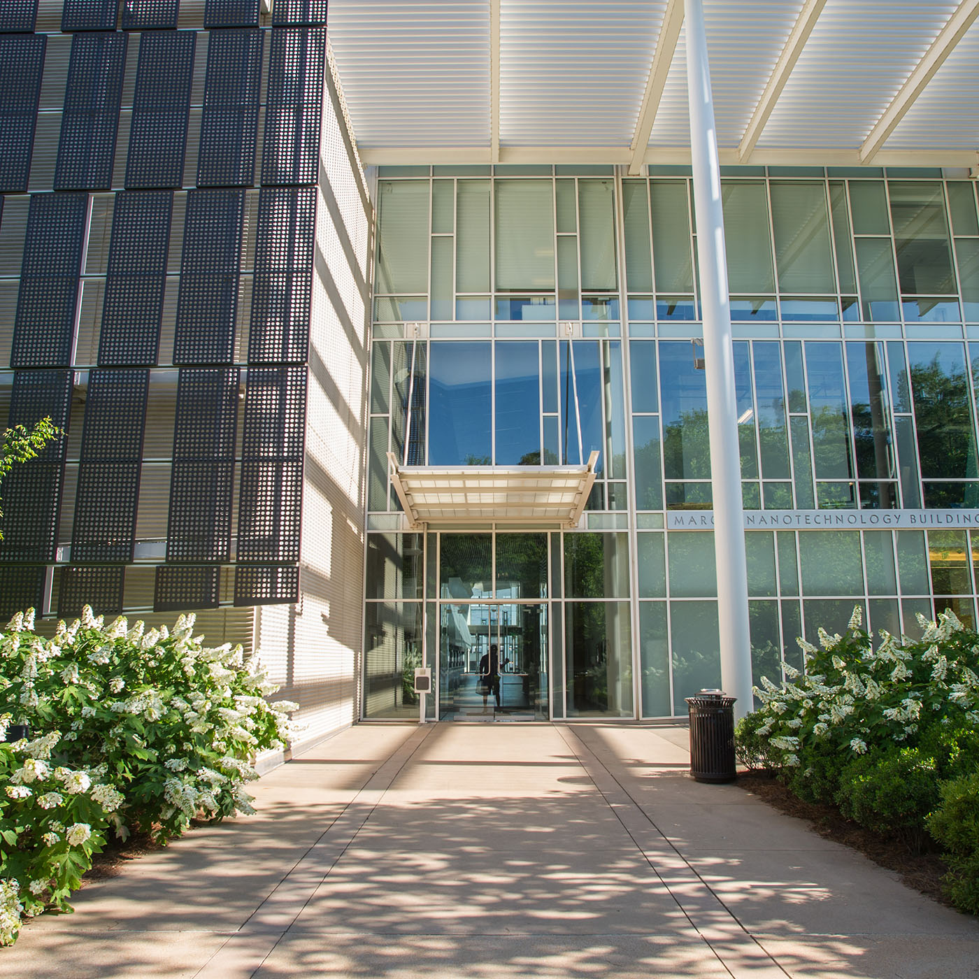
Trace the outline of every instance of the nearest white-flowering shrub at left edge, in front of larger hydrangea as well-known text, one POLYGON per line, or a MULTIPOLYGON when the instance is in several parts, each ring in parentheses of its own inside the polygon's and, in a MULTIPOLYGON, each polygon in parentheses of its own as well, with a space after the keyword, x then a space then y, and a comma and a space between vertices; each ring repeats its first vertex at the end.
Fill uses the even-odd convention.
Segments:
POLYGON ((23 915, 68 909, 122 802, 104 781, 105 766, 56 764, 60 741, 61 733, 50 731, 0 743, 0 945, 14 941, 23 915))

